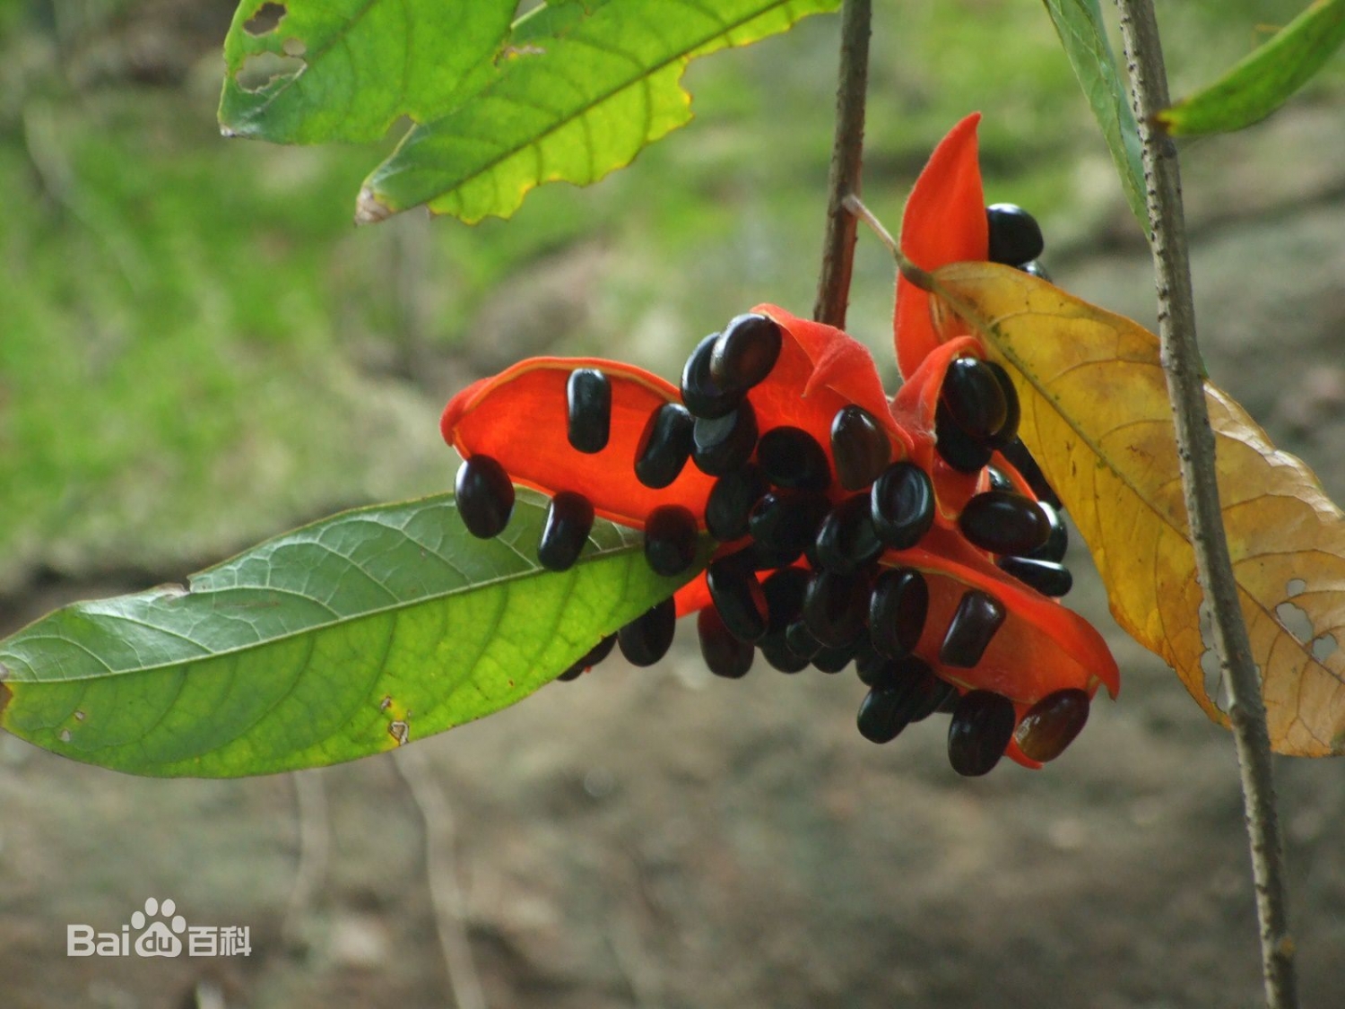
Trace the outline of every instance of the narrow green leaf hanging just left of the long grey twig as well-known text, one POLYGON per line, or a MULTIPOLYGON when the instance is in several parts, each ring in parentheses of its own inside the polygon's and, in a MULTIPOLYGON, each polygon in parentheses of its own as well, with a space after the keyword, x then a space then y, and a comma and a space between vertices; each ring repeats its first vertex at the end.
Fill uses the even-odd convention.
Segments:
POLYGON ((1139 156, 1139 126, 1130 108, 1126 85, 1116 69, 1116 58, 1107 42, 1098 0, 1044 0, 1056 34, 1075 69, 1079 86, 1102 126, 1111 160, 1120 174, 1130 210, 1149 234, 1149 210, 1145 203, 1145 165, 1139 156))

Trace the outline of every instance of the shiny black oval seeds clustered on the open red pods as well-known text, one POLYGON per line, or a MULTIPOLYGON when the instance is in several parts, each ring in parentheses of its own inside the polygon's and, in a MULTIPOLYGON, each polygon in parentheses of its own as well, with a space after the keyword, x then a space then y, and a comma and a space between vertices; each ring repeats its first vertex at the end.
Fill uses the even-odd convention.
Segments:
MULTIPOLYGON (((1037 222, 1020 207, 987 209, 990 257, 1038 276, 1042 252, 1037 222)), ((929 475, 893 461, 882 425, 859 406, 837 412, 830 453, 795 426, 760 431, 749 391, 780 355, 779 326, 740 315, 695 347, 682 371, 682 402, 655 409, 633 465, 650 488, 668 487, 690 463, 716 478, 703 515, 679 504, 655 509, 646 522, 644 556, 664 576, 695 558, 698 527, 732 550, 709 565, 712 605, 697 618, 701 654, 716 675, 738 678, 756 654, 783 673, 808 666, 838 673, 855 663, 869 687, 859 706, 865 739, 886 743, 936 712, 951 714, 948 756, 963 775, 990 771, 1015 736, 1028 756, 1049 760, 1088 717, 1083 690, 1060 690, 1020 722, 1007 697, 958 689, 915 655, 929 611, 925 576, 885 566, 886 550, 916 546, 935 521, 929 475)), ((578 452, 600 452, 611 429, 612 387, 600 370, 576 369, 566 382, 568 439, 578 452)), ((989 467, 990 490, 974 495, 958 519, 972 545, 998 566, 1048 596, 1072 584, 1061 564, 1068 546, 1060 502, 1018 439, 1018 400, 1009 375, 978 358, 954 361, 936 410, 936 451, 952 468, 976 474, 999 452, 1037 500, 1020 494, 1005 472, 989 467)), ((457 507, 477 537, 498 535, 508 522, 514 487, 494 459, 472 456, 457 474, 457 507)), ((576 491, 557 494, 537 545, 538 561, 565 570, 578 558, 593 525, 593 506, 576 491)), ((981 589, 966 591, 943 628, 939 662, 974 669, 1007 612, 981 589)), ((560 678, 574 679, 613 647, 633 665, 667 652, 674 634, 671 599, 603 639, 560 678)))

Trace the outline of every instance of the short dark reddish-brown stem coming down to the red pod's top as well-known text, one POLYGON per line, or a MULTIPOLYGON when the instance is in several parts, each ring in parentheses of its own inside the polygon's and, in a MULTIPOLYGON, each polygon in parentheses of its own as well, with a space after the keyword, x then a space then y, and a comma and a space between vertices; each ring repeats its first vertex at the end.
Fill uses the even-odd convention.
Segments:
POLYGON ((822 244, 822 273, 812 317, 845 328, 854 268, 854 218, 845 198, 859 192, 863 159, 863 100, 869 86, 870 0, 845 0, 841 8, 841 66, 837 82, 837 130, 827 176, 827 234, 822 244))

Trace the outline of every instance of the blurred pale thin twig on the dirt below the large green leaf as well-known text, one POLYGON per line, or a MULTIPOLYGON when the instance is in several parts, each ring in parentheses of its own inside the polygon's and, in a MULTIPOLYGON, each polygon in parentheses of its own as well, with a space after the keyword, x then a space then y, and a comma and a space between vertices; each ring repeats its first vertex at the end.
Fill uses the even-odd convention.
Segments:
POLYGON ((486 1009, 486 993, 482 990, 476 962, 472 959, 472 946, 467 939, 463 891, 457 885, 453 813, 421 749, 398 747, 393 752, 393 764, 406 782, 412 800, 425 823, 425 877, 429 881, 434 930, 438 932, 438 946, 444 955, 448 983, 453 990, 453 1002, 457 1009, 486 1009))

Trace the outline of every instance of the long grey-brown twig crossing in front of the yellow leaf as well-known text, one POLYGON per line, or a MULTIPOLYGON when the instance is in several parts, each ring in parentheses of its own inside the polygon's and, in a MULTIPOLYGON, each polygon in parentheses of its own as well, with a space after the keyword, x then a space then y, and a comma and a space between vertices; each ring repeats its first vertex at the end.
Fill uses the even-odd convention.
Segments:
POLYGON ((1120 8, 1131 101, 1139 121, 1158 283, 1158 336, 1177 428, 1177 457, 1181 463, 1190 538, 1196 548, 1196 570, 1210 608, 1215 651, 1219 655, 1220 674, 1228 685, 1229 720, 1241 768, 1256 912, 1260 918, 1266 1002, 1271 1009, 1294 1009, 1298 1005, 1294 942, 1289 932, 1266 706, 1219 506, 1215 436, 1205 412, 1200 352, 1196 347, 1196 311, 1186 257, 1177 149, 1169 137, 1154 129, 1151 118, 1169 105, 1158 23, 1153 0, 1116 0, 1116 4, 1120 8))

